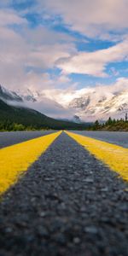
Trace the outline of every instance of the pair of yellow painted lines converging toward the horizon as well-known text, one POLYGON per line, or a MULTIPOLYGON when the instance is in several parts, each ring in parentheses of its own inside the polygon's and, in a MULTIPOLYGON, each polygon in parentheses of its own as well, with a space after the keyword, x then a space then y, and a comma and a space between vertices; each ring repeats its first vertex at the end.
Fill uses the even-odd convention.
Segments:
MULTIPOLYGON (((102 160, 111 170, 128 181, 128 148, 105 143, 66 131, 77 143, 102 160)), ((15 184, 23 172, 49 148, 61 131, 0 149, 0 195, 15 184)))

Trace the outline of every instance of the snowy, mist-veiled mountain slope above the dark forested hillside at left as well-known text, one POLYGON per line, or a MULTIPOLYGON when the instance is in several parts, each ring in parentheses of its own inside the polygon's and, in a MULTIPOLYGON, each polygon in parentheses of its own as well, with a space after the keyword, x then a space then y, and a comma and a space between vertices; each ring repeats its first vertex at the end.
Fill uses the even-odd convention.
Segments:
POLYGON ((59 102, 47 98, 37 90, 11 91, 0 85, 0 98, 11 106, 32 108, 55 119, 73 118, 73 110, 63 108, 59 102))

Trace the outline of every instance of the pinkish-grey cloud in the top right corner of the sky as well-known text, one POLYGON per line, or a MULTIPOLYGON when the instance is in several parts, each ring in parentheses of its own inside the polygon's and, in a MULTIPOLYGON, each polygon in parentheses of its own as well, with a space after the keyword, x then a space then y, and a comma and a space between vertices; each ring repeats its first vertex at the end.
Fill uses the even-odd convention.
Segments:
POLYGON ((109 32, 128 28, 127 0, 38 0, 38 10, 44 7, 89 37, 110 38, 109 32))

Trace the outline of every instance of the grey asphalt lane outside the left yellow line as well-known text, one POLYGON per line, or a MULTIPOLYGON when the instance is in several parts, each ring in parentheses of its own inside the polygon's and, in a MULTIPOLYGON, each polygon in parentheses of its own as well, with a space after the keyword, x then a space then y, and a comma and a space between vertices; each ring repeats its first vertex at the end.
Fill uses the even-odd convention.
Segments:
POLYGON ((5 131, 0 132, 0 148, 5 148, 16 143, 26 142, 32 138, 42 137, 53 131, 5 131))

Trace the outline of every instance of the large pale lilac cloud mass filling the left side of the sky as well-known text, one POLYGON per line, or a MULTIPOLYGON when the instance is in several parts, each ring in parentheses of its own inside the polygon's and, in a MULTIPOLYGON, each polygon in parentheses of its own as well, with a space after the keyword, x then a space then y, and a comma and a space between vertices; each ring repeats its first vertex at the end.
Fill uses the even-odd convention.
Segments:
MULTIPOLYGON (((0 83, 11 89, 28 86, 43 90, 53 86, 55 79, 46 78, 46 69, 54 68, 60 58, 74 54, 73 38, 44 26, 31 29, 15 11, 0 12, 0 83), (15 30, 14 24, 20 25, 20 29, 15 30)), ((60 83, 62 79, 67 82, 66 76, 60 76, 58 83, 59 79, 60 83)))

